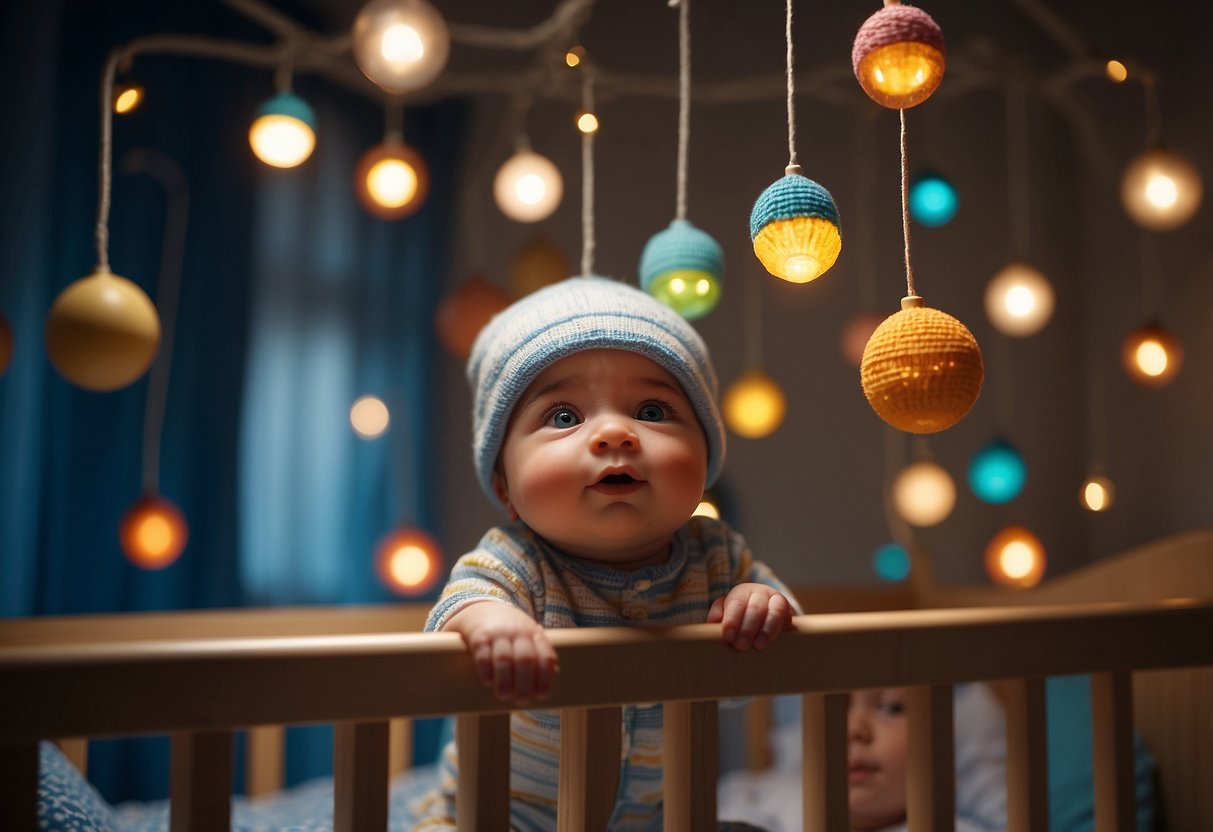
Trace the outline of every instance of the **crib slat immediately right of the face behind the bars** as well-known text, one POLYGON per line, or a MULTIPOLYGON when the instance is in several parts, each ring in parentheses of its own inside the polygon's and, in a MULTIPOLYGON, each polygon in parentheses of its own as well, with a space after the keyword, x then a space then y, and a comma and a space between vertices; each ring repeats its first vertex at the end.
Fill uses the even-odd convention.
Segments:
POLYGON ((906 820, 910 832, 956 826, 952 686, 910 688, 906 820))

